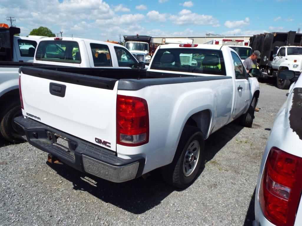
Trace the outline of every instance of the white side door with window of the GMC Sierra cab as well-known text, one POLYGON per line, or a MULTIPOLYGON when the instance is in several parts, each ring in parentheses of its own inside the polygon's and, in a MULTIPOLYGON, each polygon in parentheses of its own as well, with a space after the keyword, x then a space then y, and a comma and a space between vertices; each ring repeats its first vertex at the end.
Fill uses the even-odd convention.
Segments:
POLYGON ((249 106, 249 81, 246 78, 245 68, 239 56, 231 52, 234 64, 235 80, 236 80, 236 100, 233 118, 242 115, 249 106))

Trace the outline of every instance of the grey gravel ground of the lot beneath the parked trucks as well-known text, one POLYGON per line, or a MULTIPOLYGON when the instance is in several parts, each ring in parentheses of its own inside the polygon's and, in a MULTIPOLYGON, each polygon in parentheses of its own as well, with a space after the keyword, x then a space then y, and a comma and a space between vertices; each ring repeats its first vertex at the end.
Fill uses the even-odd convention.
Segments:
POLYGON ((206 140, 204 168, 185 190, 166 185, 158 171, 111 183, 47 164, 28 143, 0 141, 0 226, 252 225, 262 153, 288 92, 273 84, 260 83, 252 128, 231 123, 206 140))

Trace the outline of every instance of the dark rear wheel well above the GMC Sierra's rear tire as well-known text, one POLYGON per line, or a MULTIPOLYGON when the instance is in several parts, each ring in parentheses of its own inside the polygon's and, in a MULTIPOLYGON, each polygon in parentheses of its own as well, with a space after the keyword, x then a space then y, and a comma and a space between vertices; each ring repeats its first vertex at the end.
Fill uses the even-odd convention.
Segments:
POLYGON ((203 110, 191 115, 191 117, 188 118, 186 125, 191 125, 200 129, 205 138, 210 127, 210 119, 210 110, 203 110))

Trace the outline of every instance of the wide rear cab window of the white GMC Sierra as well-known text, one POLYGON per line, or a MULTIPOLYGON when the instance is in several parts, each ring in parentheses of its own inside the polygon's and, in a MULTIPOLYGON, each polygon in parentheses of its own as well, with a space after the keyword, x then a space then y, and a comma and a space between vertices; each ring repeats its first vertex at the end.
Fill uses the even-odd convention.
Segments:
POLYGON ((150 69, 226 75, 222 52, 213 49, 159 49, 150 69))

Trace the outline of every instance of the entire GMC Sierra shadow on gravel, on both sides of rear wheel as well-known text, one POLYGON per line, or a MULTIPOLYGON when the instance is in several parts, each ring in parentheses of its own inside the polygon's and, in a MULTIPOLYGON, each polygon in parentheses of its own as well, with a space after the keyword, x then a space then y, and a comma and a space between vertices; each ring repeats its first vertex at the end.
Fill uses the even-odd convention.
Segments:
MULTIPOLYGON (((231 123, 213 133, 205 142, 204 160, 210 161, 242 128, 242 126, 231 123)), ((142 214, 154 208, 175 190, 182 191, 166 184, 159 169, 150 172, 150 177, 146 180, 140 177, 124 183, 113 183, 82 173, 65 164, 48 162, 47 164, 60 176, 72 182, 73 189, 87 191, 98 199, 133 214, 142 214)), ((199 175, 203 169, 204 167, 201 168, 199 175)))

